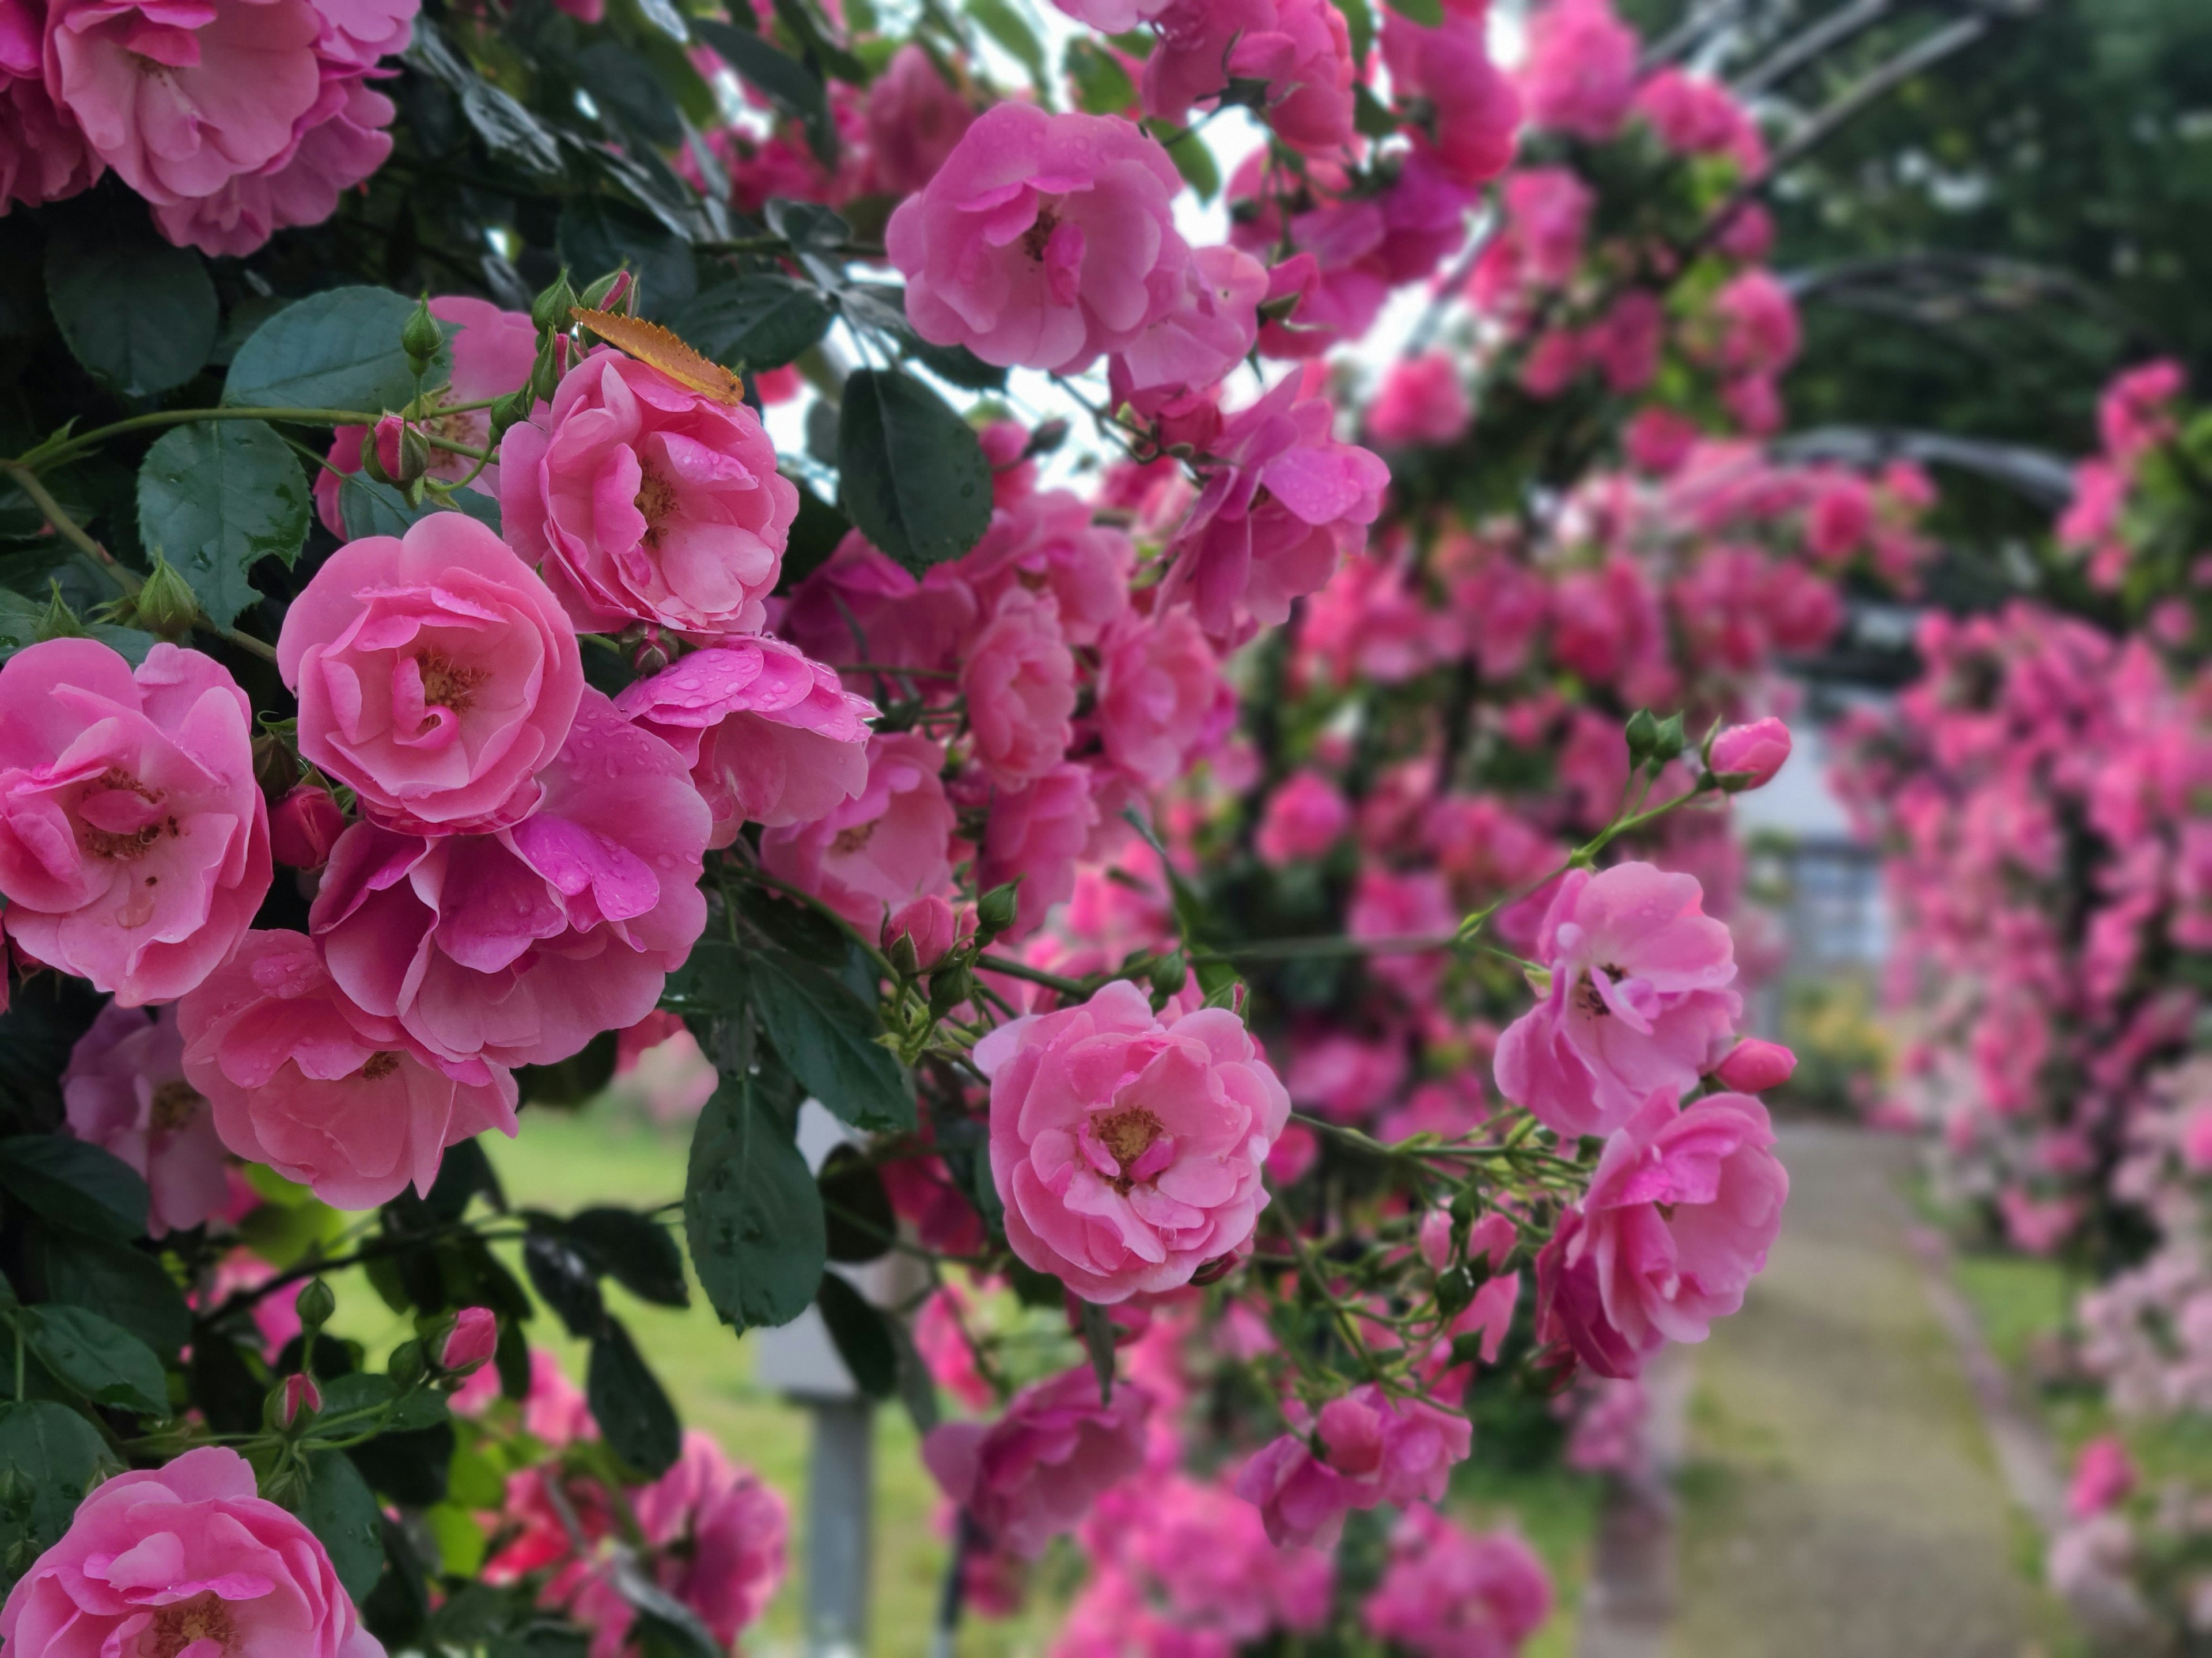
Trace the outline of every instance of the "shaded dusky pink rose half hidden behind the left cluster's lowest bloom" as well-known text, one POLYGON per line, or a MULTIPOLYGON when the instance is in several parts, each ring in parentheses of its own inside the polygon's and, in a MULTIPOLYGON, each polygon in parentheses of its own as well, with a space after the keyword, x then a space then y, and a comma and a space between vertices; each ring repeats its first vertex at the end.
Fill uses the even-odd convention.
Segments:
POLYGON ((69 1050, 62 1072, 69 1132, 146 1178, 146 1231, 190 1231, 230 1207, 223 1143, 208 1101, 184 1079, 177 1008, 148 1017, 111 1001, 69 1050))

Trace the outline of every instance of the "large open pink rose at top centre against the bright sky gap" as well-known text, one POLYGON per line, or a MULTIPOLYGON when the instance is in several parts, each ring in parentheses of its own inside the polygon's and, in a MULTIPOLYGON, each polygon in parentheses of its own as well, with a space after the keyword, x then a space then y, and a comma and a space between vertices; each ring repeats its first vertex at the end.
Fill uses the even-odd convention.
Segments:
POLYGON ((1117 115, 993 104, 891 214, 907 318, 984 363, 1079 374, 1183 292, 1168 153, 1117 115))

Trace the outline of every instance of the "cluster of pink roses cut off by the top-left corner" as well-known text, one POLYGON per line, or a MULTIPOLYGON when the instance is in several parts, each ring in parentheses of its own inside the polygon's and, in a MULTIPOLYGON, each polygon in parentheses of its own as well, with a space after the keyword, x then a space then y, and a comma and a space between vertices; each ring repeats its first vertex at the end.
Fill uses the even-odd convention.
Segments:
POLYGON ((113 170, 179 248, 248 254, 323 223, 392 155, 372 82, 416 0, 7 0, 0 212, 113 170))

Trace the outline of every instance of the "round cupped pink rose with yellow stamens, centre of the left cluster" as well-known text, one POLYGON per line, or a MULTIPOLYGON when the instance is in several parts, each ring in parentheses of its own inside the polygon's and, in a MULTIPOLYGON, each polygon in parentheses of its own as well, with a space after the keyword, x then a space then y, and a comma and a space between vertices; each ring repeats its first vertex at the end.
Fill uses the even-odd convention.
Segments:
POLYGON ((467 513, 341 546, 285 610, 299 752, 416 833, 511 825, 584 694, 575 628, 467 513))

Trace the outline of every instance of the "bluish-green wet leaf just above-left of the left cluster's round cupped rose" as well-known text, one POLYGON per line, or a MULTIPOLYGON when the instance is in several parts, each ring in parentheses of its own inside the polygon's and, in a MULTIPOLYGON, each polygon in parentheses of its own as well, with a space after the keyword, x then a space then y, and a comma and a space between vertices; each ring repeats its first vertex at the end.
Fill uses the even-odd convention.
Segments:
POLYGON ((254 562, 290 568, 305 539, 307 480, 272 427, 195 420, 146 451, 139 544, 177 568, 215 626, 261 597, 246 579, 254 562))

